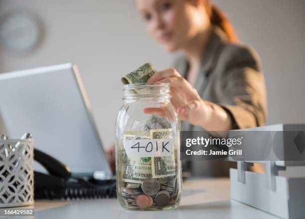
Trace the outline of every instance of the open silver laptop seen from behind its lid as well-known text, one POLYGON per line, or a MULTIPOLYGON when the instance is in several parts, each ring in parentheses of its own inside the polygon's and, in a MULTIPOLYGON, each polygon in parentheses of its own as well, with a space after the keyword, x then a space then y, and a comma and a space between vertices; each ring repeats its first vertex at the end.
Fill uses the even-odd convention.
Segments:
MULTIPOLYGON (((16 139, 25 132, 72 176, 112 177, 75 64, 0 74, 0 133, 16 139)), ((34 169, 45 172, 36 162, 34 169)))

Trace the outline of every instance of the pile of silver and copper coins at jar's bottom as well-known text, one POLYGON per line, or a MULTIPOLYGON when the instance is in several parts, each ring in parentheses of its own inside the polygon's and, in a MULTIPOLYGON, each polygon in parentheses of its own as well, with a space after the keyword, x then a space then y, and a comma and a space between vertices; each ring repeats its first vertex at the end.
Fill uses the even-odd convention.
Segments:
POLYGON ((176 198, 175 182, 160 183, 157 179, 146 179, 142 184, 126 183, 122 191, 122 198, 132 207, 152 208, 165 207, 174 203, 176 198))

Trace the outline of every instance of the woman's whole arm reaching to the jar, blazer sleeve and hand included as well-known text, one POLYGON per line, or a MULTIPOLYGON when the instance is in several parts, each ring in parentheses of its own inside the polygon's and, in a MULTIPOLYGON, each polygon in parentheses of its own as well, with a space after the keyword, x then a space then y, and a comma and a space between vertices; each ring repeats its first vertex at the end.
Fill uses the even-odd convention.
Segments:
MULTIPOLYGON (((197 91, 173 69, 157 72, 148 82, 169 83, 171 103, 179 117, 207 131, 228 131, 263 125, 266 120, 266 87, 257 56, 247 47, 228 46, 219 69, 219 103, 200 98, 197 91), (227 53, 227 54, 225 54, 227 53)), ((150 113, 149 110, 146 111, 150 113)))

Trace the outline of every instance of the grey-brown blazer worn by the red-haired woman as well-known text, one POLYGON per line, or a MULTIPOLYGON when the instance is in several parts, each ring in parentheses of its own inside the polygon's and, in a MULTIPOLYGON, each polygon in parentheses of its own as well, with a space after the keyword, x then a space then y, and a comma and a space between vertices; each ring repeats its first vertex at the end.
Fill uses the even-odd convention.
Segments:
MULTIPOLYGON (((185 77, 188 71, 186 59, 179 57, 174 68, 185 77)), ((259 56, 246 45, 228 42, 219 29, 214 29, 211 34, 194 87, 203 100, 216 103, 229 112, 234 129, 265 124, 266 87, 259 56)), ((204 131, 188 122, 182 122, 182 130, 204 131)), ((235 164, 204 161, 200 165, 188 162, 187 168, 193 175, 228 176, 231 166, 235 164)))

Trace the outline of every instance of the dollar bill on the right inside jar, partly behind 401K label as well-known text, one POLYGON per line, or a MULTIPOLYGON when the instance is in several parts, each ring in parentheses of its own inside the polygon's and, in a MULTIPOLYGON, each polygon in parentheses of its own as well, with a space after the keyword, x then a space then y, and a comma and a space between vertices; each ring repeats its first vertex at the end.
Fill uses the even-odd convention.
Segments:
MULTIPOLYGON (((152 139, 173 138, 171 128, 151 129, 152 139)), ((176 175, 176 163, 174 153, 167 157, 152 157, 152 178, 165 178, 176 175)))

